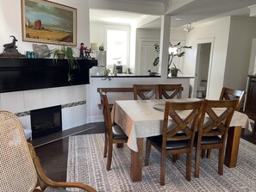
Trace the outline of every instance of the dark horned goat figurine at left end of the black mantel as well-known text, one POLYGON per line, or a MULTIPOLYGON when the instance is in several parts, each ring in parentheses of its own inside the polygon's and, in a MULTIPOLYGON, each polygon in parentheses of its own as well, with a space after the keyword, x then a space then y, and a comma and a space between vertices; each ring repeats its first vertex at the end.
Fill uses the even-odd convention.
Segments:
POLYGON ((13 37, 13 40, 11 43, 6 43, 3 45, 3 53, 0 54, 0 57, 10 57, 10 58, 20 58, 25 57, 22 53, 19 53, 16 46, 16 37, 14 35, 10 35, 10 37, 13 37))

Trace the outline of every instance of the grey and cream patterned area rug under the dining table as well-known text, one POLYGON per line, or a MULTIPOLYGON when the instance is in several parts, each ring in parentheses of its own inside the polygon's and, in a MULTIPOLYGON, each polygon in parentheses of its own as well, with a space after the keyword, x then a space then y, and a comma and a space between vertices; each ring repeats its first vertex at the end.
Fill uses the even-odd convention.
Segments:
MULTIPOLYGON (((133 183, 129 177, 130 150, 114 146, 111 170, 106 170, 103 158, 103 134, 87 134, 69 138, 67 181, 90 184, 99 192, 147 191, 256 191, 256 146, 240 139, 237 166, 224 166, 223 176, 217 173, 217 151, 211 158, 201 158, 200 177, 185 179, 185 155, 178 162, 166 160, 165 186, 159 185, 160 153, 152 148, 148 166, 143 166, 142 181, 133 183)), ((194 156, 193 156, 194 159, 194 156)), ((74 190, 75 191, 75 190, 74 190)))

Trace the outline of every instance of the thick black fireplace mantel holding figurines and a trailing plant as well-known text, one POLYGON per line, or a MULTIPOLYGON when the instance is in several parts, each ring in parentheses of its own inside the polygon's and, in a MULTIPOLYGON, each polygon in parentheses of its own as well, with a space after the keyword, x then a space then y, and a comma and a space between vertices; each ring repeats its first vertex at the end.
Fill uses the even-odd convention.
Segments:
POLYGON ((89 84, 89 70, 97 65, 97 60, 76 60, 80 69, 72 71, 73 81, 70 83, 66 59, 53 62, 53 59, 0 57, 0 93, 89 84))

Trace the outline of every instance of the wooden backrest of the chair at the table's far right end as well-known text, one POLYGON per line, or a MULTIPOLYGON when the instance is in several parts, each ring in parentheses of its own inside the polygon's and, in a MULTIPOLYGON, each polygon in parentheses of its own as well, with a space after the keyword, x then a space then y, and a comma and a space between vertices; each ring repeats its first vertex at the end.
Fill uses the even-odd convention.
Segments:
POLYGON ((246 91, 245 90, 233 90, 227 87, 222 88, 220 100, 233 100, 238 99, 236 110, 240 110, 242 103, 245 101, 246 91))

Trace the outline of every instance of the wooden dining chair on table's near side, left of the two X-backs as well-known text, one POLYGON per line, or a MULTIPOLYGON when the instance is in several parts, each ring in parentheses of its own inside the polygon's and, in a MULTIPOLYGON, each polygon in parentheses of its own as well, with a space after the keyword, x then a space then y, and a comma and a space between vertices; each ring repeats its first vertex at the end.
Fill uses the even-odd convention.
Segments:
POLYGON ((147 138, 145 165, 148 165, 151 146, 161 152, 160 184, 165 185, 166 155, 186 153, 186 179, 191 179, 191 155, 202 101, 165 102, 162 135, 147 138), (172 118, 172 123, 168 124, 172 118), (171 126, 170 126, 171 125, 171 126))

